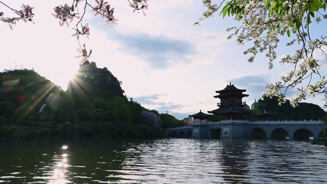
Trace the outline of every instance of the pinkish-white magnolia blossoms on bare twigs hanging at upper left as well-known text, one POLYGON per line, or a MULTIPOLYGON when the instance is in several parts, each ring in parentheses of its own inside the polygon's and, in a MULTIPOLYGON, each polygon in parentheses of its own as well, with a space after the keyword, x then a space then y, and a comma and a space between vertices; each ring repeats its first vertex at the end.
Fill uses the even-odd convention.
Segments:
MULTIPOLYGON (((81 25, 81 29, 78 29, 78 24, 82 21, 84 14, 88 11, 86 8, 89 7, 92 9, 92 11, 96 15, 101 15, 102 18, 106 18, 105 25, 113 24, 118 25, 117 19, 113 16, 113 10, 114 8, 111 8, 108 2, 105 2, 104 0, 67 0, 68 3, 65 3, 64 5, 60 5, 54 8, 54 13, 52 15, 59 19, 59 25, 63 27, 66 25, 69 27, 71 23, 74 22, 75 19, 78 20, 77 24, 74 23, 74 28, 72 30, 75 31, 74 34, 72 34, 72 37, 76 36, 79 44, 79 48, 77 48, 77 52, 80 54, 76 56, 75 58, 82 58, 80 60, 80 64, 83 64, 85 61, 88 60, 92 53, 92 49, 88 53, 85 49, 85 44, 83 44, 83 47, 80 44, 79 36, 85 35, 88 39, 90 36, 90 28, 88 24, 85 24, 84 26, 81 25), (95 2, 95 5, 91 5, 91 2, 95 2), (80 4, 84 3, 83 6, 80 6, 80 4), (71 4, 72 3, 72 4, 71 4), (79 10, 82 11, 82 13, 79 13, 79 10)), ((129 3, 129 6, 133 9, 133 12, 142 10, 143 15, 146 15, 145 9, 147 9, 148 0, 127 0, 129 3)), ((2 2, 0 2, 2 3, 2 2)), ((2 3, 4 4, 4 3, 2 3)), ((4 4, 5 5, 5 4, 4 4)), ((7 6, 7 5, 6 5, 7 6)), ((8 7, 8 6, 7 6, 8 7)), ((4 12, 0 11, 0 21, 8 23, 9 28, 13 30, 12 25, 16 25, 16 22, 19 20, 23 20, 24 22, 33 22, 32 17, 34 17, 34 14, 32 10, 34 7, 30 7, 29 5, 22 5, 21 10, 15 10, 10 7, 14 13, 16 13, 17 17, 3 17, 4 12)))

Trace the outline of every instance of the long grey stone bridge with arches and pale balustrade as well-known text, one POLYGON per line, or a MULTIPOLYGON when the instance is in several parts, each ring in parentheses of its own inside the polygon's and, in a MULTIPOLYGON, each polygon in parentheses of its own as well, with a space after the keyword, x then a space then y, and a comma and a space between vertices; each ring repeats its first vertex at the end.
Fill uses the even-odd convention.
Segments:
POLYGON ((248 121, 223 120, 193 123, 193 126, 170 128, 167 136, 178 138, 271 138, 310 139, 323 135, 327 127, 321 120, 248 121))

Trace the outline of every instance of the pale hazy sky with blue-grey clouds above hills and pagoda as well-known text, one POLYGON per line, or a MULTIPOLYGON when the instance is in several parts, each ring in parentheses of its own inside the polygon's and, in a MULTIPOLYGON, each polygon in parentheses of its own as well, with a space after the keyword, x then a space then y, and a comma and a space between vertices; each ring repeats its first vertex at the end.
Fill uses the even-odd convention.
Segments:
MULTIPOLYGON (((91 2, 91 0, 88 0, 91 2)), ((19 9, 21 3, 34 9, 35 24, 18 22, 11 31, 5 23, 0 23, 0 71, 15 65, 34 68, 63 89, 74 77, 79 67, 76 48, 78 42, 71 37, 75 20, 69 28, 60 27, 59 20, 51 13, 53 8, 70 0, 3 0, 11 8, 19 9)), ((266 91, 267 83, 279 80, 281 75, 292 69, 291 65, 280 65, 274 61, 274 68, 268 70, 268 59, 258 55, 253 63, 242 52, 247 48, 236 45, 236 40, 227 40, 226 28, 238 23, 232 18, 215 14, 214 17, 193 26, 206 9, 199 0, 148 1, 146 16, 133 13, 127 0, 111 0, 115 7, 114 16, 118 26, 105 26, 105 19, 86 12, 82 24, 89 24, 90 40, 81 39, 86 48, 92 48, 90 62, 97 67, 107 67, 122 81, 122 88, 128 98, 132 97, 148 109, 160 113, 168 112, 179 119, 187 115, 211 111, 219 102, 213 96, 230 82, 235 87, 247 89, 248 105, 258 100, 266 91)), ((80 9, 82 10, 83 2, 80 9)), ((5 16, 13 15, 0 5, 5 16)), ((314 27, 313 36, 320 37, 319 30, 327 26, 314 27)), ((281 39, 276 50, 278 58, 293 55, 296 47, 287 47, 291 38, 281 39)), ((323 48, 326 50, 326 48, 323 48)), ((326 59, 315 53, 321 60, 321 73, 325 74, 326 59)), ((319 78, 313 78, 317 82, 319 78)), ((303 82, 302 85, 305 83, 303 82)), ((288 99, 296 94, 295 89, 286 93, 288 99)), ((309 97, 305 102, 323 107, 323 95, 309 97)))

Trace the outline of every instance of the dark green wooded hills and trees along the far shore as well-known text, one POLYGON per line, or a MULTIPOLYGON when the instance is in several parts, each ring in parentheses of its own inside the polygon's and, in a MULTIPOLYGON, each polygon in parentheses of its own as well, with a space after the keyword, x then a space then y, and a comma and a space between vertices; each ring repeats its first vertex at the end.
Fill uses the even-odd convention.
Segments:
MULTIPOLYGON (((66 91, 23 67, 4 70, 0 80, 0 140, 162 138, 163 129, 193 122, 146 109, 128 99, 122 82, 106 67, 97 68, 95 62, 80 65, 66 91)), ((312 103, 293 108, 288 100, 279 106, 277 98, 266 98, 258 101, 253 113, 263 109, 277 113, 276 120, 326 122, 326 112, 312 103)), ((209 121, 215 121, 214 117, 209 121)))

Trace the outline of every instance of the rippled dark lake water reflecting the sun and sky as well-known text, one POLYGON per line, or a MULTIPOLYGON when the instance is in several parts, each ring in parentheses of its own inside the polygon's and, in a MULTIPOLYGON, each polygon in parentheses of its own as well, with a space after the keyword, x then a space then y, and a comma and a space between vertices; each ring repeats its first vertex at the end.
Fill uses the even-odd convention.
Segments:
POLYGON ((0 141, 1 184, 325 182, 327 147, 306 141, 0 141))

